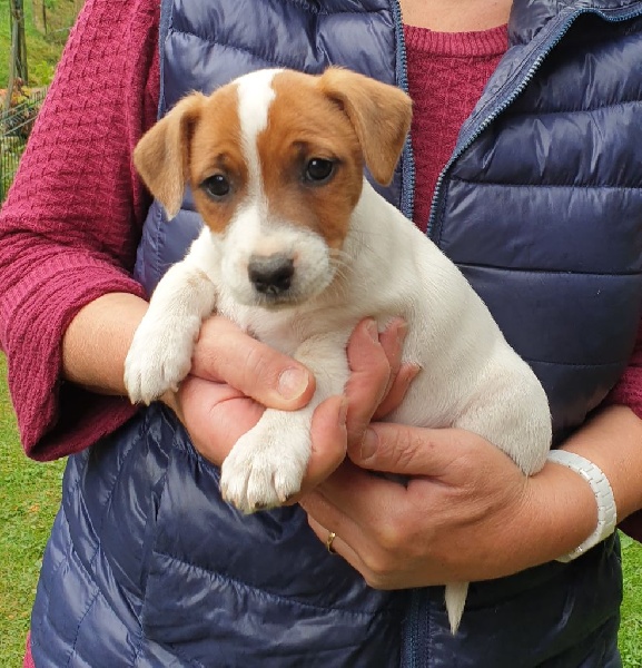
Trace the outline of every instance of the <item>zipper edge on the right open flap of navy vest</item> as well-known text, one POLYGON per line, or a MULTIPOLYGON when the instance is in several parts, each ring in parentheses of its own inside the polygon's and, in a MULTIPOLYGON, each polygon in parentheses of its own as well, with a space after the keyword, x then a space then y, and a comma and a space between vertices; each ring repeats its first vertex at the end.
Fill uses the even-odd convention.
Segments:
POLYGON ((522 80, 513 88, 511 95, 502 102, 500 102, 491 112, 477 125, 472 134, 470 134, 465 139, 462 140, 456 147, 455 151, 451 156, 451 159, 446 163, 446 166, 442 169, 437 178, 437 183, 435 184, 435 193, 433 195, 433 204, 431 205, 431 215, 428 217, 428 225, 426 228, 426 235, 433 242, 436 240, 438 226, 435 225, 437 219, 437 212, 442 205, 443 193, 442 186, 446 178, 447 173, 454 165, 454 163, 466 151, 471 145, 480 137, 480 135, 501 115, 503 114, 514 101, 515 99, 524 91, 531 79, 535 76, 535 72, 540 69, 542 62, 546 59, 549 53, 557 46, 557 43, 562 40, 564 35, 571 29, 571 26, 575 22, 575 20, 581 14, 594 13, 602 18, 604 21, 609 23, 618 23, 621 21, 628 21, 630 19, 642 16, 642 9, 638 9, 634 11, 623 12, 623 10, 613 10, 614 13, 619 13, 620 16, 610 17, 603 10, 596 9, 579 9, 575 12, 565 19, 561 20, 561 26, 549 39, 549 41, 539 49, 539 53, 535 56, 533 62, 531 63, 529 70, 523 76, 522 80))

